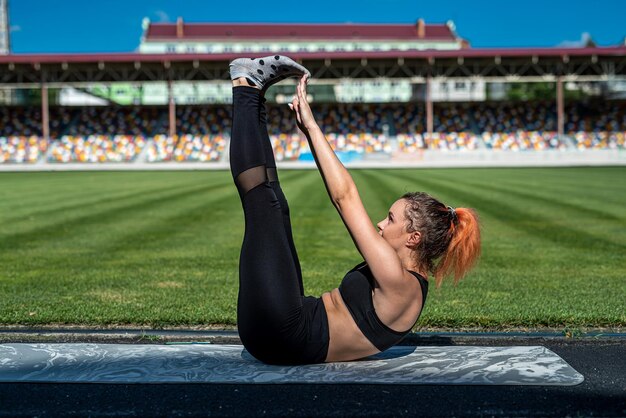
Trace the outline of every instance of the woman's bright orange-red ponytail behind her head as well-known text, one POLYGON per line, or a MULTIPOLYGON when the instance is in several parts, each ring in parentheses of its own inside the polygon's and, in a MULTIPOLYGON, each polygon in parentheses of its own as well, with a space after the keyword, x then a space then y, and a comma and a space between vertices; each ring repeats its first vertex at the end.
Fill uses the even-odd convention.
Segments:
POLYGON ((480 228, 478 215, 473 209, 456 208, 457 222, 452 222, 452 238, 437 266, 434 276, 437 287, 447 276, 454 275, 454 283, 467 274, 480 256, 480 228))

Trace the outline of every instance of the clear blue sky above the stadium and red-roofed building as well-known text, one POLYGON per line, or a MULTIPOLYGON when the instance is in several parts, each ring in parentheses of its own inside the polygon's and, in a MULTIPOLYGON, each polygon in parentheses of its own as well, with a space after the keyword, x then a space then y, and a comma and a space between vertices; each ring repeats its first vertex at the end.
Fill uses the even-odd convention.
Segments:
POLYGON ((178 16, 188 22, 216 23, 452 20, 457 33, 473 47, 575 46, 588 35, 605 46, 626 36, 626 0, 9 0, 11 49, 130 52, 139 45, 144 17, 174 22, 178 16))

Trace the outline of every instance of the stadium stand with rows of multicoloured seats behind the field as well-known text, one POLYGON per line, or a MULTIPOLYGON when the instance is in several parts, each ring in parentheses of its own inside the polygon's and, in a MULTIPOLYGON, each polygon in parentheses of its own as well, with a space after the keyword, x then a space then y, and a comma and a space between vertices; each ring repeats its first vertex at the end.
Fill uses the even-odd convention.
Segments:
MULTIPOLYGON (((437 103, 434 132, 425 131, 423 104, 314 104, 315 117, 337 152, 411 154, 420 150, 541 151, 626 147, 626 104, 572 103, 565 138, 556 133, 552 103, 437 103), (395 141, 395 148, 393 146, 395 141)), ((36 108, 0 109, 0 162, 219 161, 230 136, 231 108, 178 106, 177 135, 167 135, 164 107, 51 108, 50 143, 36 108), (143 157, 142 157, 143 158, 143 157), (143 160, 143 159, 142 159, 143 160)), ((286 105, 268 106, 268 130, 278 161, 310 155, 286 105)))

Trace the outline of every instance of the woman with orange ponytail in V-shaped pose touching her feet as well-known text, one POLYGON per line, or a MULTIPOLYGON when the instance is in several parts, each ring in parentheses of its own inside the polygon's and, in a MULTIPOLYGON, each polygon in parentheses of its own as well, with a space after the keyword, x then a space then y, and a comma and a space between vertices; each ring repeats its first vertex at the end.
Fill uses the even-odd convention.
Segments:
POLYGON ((355 360, 395 345, 417 322, 429 273, 439 286, 449 275, 458 281, 476 261, 480 233, 475 213, 444 206, 425 193, 407 193, 393 203, 377 231, 352 177, 313 118, 306 96, 310 73, 276 55, 237 59, 230 74, 230 164, 246 225, 237 303, 243 345, 270 364, 355 360), (364 258, 339 288, 321 298, 304 296, 289 207, 266 127, 263 94, 287 77, 300 77, 289 106, 331 202, 364 258))

